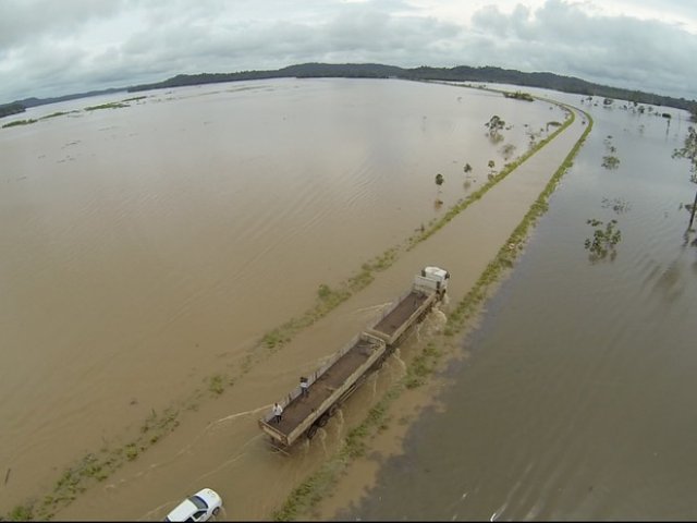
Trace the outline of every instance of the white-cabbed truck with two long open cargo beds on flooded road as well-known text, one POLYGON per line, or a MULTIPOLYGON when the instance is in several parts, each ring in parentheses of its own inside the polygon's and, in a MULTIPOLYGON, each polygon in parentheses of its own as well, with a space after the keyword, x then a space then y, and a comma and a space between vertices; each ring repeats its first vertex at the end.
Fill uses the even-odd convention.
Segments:
POLYGON ((273 413, 259 419, 259 427, 281 447, 291 447, 305 435, 311 439, 339 406, 394 351, 409 329, 419 324, 445 295, 450 273, 425 267, 414 277, 412 288, 400 296, 372 325, 354 337, 329 362, 277 403, 283 415, 273 413))

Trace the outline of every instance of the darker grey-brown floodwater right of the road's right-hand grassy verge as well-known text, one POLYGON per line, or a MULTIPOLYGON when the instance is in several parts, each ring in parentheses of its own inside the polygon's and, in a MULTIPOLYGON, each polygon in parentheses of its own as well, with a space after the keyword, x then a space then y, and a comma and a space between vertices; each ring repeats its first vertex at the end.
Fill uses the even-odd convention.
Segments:
POLYGON ((333 518, 697 518, 695 185, 671 159, 689 123, 550 96, 590 110, 586 145, 437 405, 333 518), (616 169, 601 166, 611 147, 616 169), (589 259, 587 219, 617 221, 614 259, 589 259))

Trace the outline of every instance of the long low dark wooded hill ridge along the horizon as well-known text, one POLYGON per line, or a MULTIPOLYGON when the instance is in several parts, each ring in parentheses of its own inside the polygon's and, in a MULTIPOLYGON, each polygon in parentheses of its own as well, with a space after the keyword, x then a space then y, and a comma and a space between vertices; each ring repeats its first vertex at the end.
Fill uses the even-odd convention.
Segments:
POLYGON ((344 77, 344 78, 403 78, 403 80, 438 80, 451 82, 482 82, 497 84, 512 84, 523 87, 540 87, 559 90, 562 93, 578 94, 582 96, 599 96, 603 98, 614 98, 637 104, 651 104, 656 106, 674 107, 685 109, 697 115, 697 101, 685 98, 673 98, 640 90, 623 89, 601 84, 594 84, 574 76, 562 76, 554 73, 537 72, 524 73, 512 69, 501 69, 493 66, 470 68, 458 65, 455 68, 430 68, 419 66, 403 69, 394 65, 383 65, 379 63, 301 63, 286 68, 266 71, 241 71, 235 73, 200 73, 200 74, 178 74, 171 78, 152 84, 134 85, 127 88, 112 88, 94 90, 77 95, 68 95, 57 98, 25 98, 12 104, 0 106, 0 117, 22 112, 27 107, 53 104, 56 101, 84 98, 87 96, 103 95, 127 90, 135 93, 139 90, 182 87, 187 85, 212 84, 219 82, 239 82, 245 80, 265 78, 316 78, 316 77, 344 77), (21 110, 19 110, 22 108, 21 110))

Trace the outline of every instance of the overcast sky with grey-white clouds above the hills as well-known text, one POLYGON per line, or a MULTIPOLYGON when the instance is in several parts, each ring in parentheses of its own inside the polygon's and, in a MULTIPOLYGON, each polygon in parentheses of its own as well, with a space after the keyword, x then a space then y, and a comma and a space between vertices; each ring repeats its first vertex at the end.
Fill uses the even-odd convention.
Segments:
POLYGON ((0 104, 308 61, 496 65, 697 99, 697 1, 0 0, 0 104))

